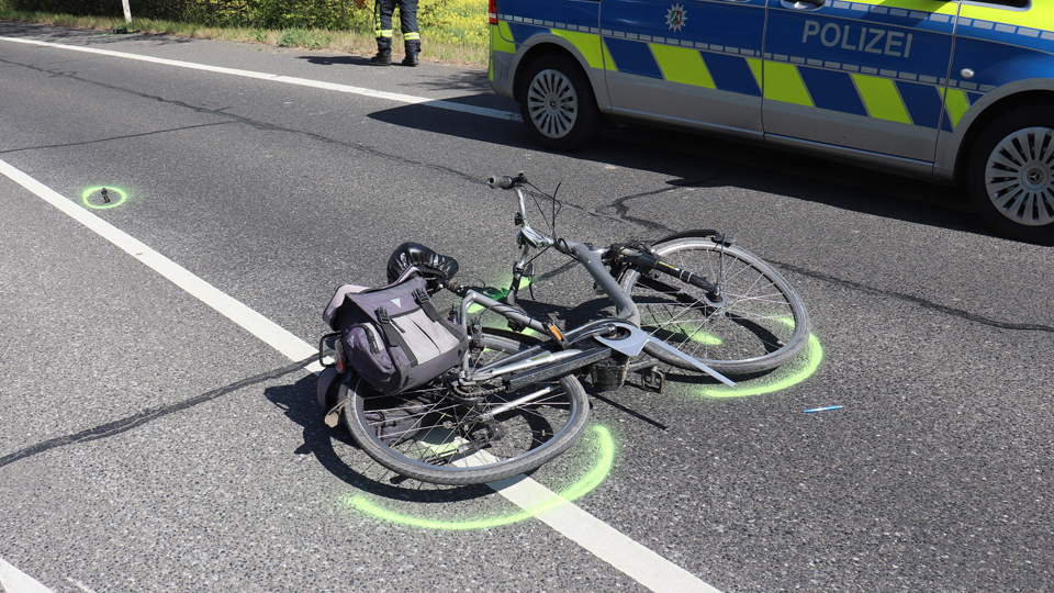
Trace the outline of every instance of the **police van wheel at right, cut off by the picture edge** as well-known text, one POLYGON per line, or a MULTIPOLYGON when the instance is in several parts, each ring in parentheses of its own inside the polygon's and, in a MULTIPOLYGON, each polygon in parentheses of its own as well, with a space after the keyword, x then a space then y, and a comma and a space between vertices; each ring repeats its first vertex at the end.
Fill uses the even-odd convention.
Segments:
POLYGON ((996 118, 974 142, 965 181, 993 230, 1054 245, 1054 105, 1024 105, 996 118))

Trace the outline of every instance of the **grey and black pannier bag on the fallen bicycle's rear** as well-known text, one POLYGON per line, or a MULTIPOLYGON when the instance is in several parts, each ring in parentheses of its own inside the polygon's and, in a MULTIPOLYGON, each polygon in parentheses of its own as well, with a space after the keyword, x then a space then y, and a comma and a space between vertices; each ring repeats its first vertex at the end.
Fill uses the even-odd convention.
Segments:
POLYGON ((340 332, 355 371, 377 391, 400 393, 461 362, 469 339, 439 315, 415 268, 381 289, 341 287, 323 315, 340 332))

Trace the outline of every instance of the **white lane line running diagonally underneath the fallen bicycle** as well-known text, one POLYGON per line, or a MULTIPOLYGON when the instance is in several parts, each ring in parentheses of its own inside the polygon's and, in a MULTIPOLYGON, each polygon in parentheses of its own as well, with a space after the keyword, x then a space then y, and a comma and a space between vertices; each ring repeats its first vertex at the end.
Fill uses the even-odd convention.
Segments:
MULTIPOLYGON (((314 346, 253 311, 240 301, 221 292, 171 259, 158 254, 124 231, 88 212, 71 200, 67 200, 58 192, 3 160, 0 160, 0 174, 11 178, 14 182, 96 232, 102 238, 143 261, 176 286, 215 309, 291 360, 303 360, 317 353, 314 346)), ((314 365, 317 365, 317 362, 314 365)), ((559 496, 526 475, 495 482, 491 488, 528 512, 538 508, 539 502, 552 501, 559 496)), ((717 592, 716 589, 696 579, 681 567, 630 539, 571 502, 551 511, 539 513, 538 518, 657 593, 717 592)))

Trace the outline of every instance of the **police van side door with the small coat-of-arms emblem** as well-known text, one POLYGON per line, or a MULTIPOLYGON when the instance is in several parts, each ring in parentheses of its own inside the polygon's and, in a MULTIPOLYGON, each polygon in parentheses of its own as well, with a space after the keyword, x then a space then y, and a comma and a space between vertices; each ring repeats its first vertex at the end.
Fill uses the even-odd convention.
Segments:
POLYGON ((765 0, 602 0, 615 114, 761 133, 765 0))

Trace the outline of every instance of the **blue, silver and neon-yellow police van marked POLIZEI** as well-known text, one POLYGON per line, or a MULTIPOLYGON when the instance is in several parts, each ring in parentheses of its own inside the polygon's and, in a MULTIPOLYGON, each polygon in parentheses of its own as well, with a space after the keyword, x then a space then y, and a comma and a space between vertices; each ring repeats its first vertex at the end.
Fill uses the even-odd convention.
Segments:
POLYGON ((1054 243, 1050 0, 490 0, 494 90, 541 146, 605 118, 962 182, 1054 243))

